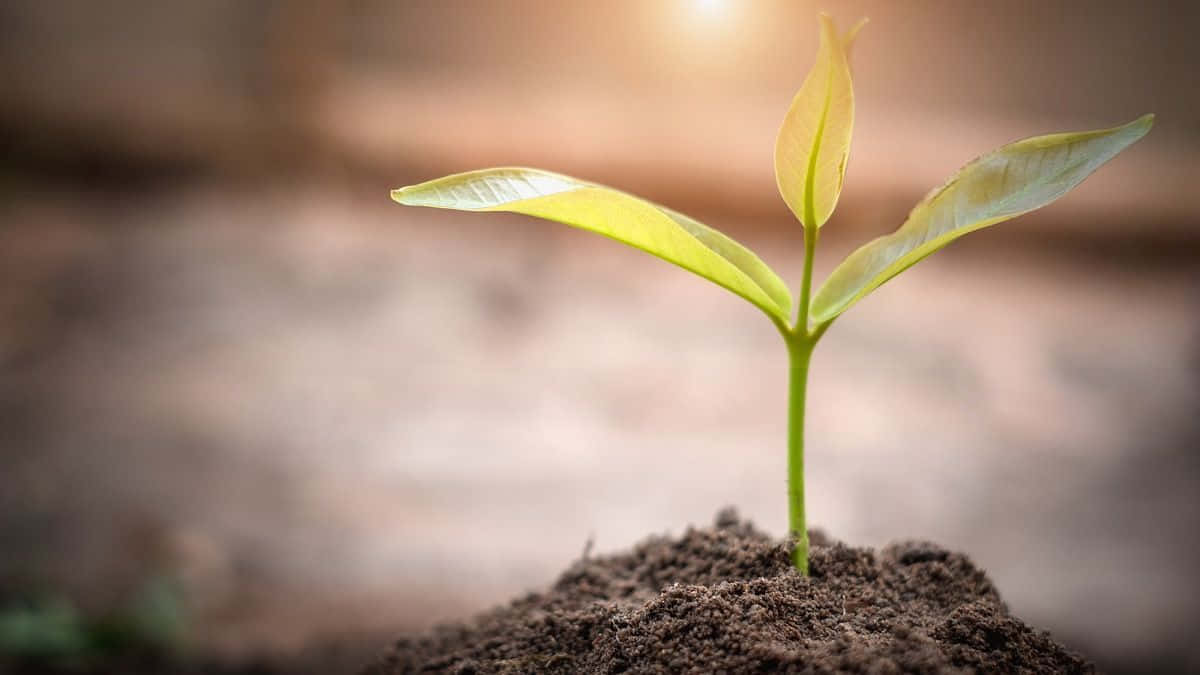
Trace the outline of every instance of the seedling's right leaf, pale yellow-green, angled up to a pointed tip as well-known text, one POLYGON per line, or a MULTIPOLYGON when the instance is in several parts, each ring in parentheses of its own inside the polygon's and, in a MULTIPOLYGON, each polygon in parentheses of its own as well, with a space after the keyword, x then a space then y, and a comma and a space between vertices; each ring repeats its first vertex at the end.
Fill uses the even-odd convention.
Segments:
POLYGON ((833 319, 959 237, 1062 197, 1153 124, 1151 114, 1112 129, 1036 136, 968 163, 926 195, 899 229, 862 246, 833 270, 812 299, 812 322, 833 319))

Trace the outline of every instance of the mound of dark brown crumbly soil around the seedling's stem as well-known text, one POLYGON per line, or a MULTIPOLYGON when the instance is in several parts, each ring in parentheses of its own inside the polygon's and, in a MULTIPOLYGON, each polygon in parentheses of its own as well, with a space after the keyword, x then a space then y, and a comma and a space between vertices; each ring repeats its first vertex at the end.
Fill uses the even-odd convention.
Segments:
POLYGON ((1092 673, 1009 615, 988 577, 929 543, 788 545, 710 528, 584 557, 550 590, 403 638, 365 675, 446 673, 1092 673))

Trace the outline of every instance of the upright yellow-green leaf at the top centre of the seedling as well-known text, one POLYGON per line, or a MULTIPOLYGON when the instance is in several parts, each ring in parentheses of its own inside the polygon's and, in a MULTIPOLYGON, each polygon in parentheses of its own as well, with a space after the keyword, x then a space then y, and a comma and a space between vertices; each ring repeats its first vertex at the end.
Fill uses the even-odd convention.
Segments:
POLYGON ((775 139, 775 183, 804 227, 823 226, 841 195, 854 126, 854 89, 846 52, 863 23, 839 38, 833 19, 821 14, 816 64, 775 139))

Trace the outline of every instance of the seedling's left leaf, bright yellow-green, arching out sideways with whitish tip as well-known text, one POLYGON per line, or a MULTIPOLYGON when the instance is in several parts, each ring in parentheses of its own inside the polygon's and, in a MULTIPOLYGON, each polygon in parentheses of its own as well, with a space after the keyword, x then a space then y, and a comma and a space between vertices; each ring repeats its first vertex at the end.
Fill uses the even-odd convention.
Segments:
POLYGON ((683 214, 625 192, 540 169, 492 168, 392 190, 413 207, 512 211, 604 234, 658 256, 787 322, 787 286, 749 249, 683 214))

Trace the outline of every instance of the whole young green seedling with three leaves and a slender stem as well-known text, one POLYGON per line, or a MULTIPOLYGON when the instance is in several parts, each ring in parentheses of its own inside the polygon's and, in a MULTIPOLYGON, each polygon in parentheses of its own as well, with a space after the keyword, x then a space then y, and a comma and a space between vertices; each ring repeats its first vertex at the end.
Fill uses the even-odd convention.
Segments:
POLYGON ((604 234, 674 263, 745 298, 784 336, 787 408, 788 524, 792 562, 808 574, 804 515, 804 401, 809 362, 829 325, 854 303, 950 241, 1039 209, 1145 136, 1147 114, 1112 129, 1018 141, 966 165, 929 192, 892 234, 842 261, 812 293, 812 258, 821 227, 841 193, 854 92, 847 53, 863 26, 839 35, 822 14, 816 62, 792 101, 775 141, 775 181, 804 229, 804 276, 796 316, 792 295, 754 252, 678 211, 619 190, 530 168, 491 168, 401 187, 401 204, 467 211, 512 211, 604 234))

